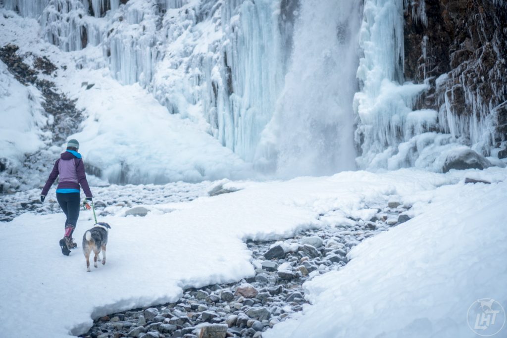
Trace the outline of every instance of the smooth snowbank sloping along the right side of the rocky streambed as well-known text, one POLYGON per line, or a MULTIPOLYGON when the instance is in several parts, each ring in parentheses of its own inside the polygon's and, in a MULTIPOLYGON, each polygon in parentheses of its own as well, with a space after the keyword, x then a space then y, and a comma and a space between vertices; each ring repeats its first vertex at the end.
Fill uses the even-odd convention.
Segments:
MULTIPOLYGON (((504 180, 505 170, 487 172, 504 180)), ((507 305, 507 182, 401 198, 415 217, 353 248, 340 271, 307 282, 313 305, 263 336, 475 337, 468 308, 485 297, 507 305)))

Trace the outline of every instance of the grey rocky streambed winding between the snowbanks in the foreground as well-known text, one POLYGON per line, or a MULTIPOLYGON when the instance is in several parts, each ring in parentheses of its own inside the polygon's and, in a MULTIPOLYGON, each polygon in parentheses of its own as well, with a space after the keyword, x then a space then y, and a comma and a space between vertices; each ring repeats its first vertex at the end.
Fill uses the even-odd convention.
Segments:
POLYGON ((175 303, 98 318, 81 337, 260 337, 302 311, 308 303, 305 281, 345 266, 352 247, 410 219, 407 209, 390 202, 370 219, 350 219, 351 224, 308 230, 283 241, 247 241, 255 276, 186 289, 175 303))

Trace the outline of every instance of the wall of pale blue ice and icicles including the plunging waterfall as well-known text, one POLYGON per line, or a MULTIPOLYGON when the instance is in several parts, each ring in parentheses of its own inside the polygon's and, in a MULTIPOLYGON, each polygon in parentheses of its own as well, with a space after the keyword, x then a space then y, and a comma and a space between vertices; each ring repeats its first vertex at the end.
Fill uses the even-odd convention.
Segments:
MULTIPOLYGON (((107 67, 121 84, 138 83, 171 114, 263 171, 440 170, 453 144, 485 155, 493 144, 499 105, 487 106, 464 86, 473 114, 453 111, 457 87, 439 93, 439 109, 421 109, 426 73, 425 83, 405 82, 404 11, 427 25, 425 0, 4 0, 3 6, 37 18, 44 39, 61 50, 85 49, 76 54, 79 67, 107 67)), ((424 39, 421 46, 424 58, 424 39)), ((437 87, 451 77, 442 74, 437 87)))

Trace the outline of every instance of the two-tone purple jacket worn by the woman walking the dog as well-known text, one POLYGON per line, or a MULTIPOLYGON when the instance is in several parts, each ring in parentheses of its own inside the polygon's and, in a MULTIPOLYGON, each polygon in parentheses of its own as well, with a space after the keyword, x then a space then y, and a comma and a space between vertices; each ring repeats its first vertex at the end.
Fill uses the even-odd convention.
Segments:
POLYGON ((49 188, 58 175, 60 175, 60 182, 58 183, 57 189, 79 190, 81 185, 86 197, 93 197, 88 181, 86 180, 85 165, 81 158, 78 158, 70 152, 60 154, 60 158, 56 160, 55 166, 51 174, 49 174, 49 178, 46 181, 46 185, 44 185, 41 195, 46 196, 48 194, 49 188))

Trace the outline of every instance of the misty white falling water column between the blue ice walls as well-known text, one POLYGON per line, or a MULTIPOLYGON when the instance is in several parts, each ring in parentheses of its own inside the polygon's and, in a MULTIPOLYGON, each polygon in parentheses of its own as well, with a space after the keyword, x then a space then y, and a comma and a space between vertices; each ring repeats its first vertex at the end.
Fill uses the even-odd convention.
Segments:
POLYGON ((302 2, 292 65, 263 133, 258 166, 282 176, 355 167, 352 101, 361 9, 356 1, 302 2))

